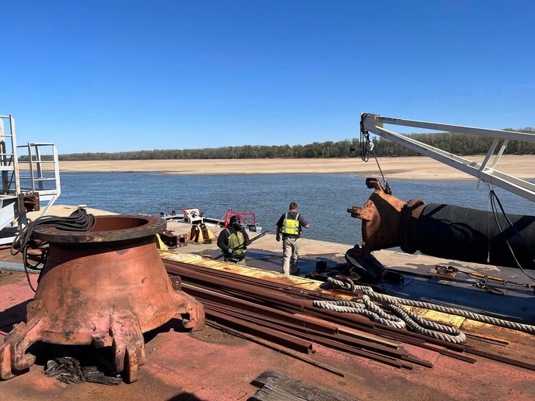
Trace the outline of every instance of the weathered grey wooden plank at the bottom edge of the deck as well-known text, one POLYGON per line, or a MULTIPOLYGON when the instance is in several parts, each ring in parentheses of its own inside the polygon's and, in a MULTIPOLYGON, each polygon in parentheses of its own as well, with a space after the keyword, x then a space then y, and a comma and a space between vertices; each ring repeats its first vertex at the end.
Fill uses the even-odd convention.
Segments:
MULTIPOLYGON (((283 392, 290 394, 294 398, 258 398, 258 400, 306 400, 306 401, 358 401, 356 398, 345 396, 344 394, 324 389, 309 382, 298 380, 292 376, 287 376, 274 370, 266 370, 252 380, 252 385, 257 387, 269 386, 259 397, 269 397, 273 394, 283 392)), ((254 398, 253 398, 254 399, 254 398)))

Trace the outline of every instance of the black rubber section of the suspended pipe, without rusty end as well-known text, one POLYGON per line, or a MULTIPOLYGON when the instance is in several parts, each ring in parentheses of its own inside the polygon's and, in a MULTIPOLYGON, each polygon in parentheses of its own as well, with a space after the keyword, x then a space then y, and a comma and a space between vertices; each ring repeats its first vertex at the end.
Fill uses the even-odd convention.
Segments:
POLYGON ((509 215, 515 230, 499 213, 504 234, 492 212, 447 204, 428 204, 418 218, 417 249, 439 258, 535 269, 535 216, 509 215))

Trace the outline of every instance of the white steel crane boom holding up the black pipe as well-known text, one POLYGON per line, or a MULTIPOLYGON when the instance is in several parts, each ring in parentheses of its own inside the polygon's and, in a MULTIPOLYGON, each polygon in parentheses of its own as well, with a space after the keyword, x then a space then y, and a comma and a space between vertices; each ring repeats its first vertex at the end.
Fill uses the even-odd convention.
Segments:
POLYGON ((520 195, 521 197, 525 197, 526 199, 530 199, 531 201, 535 202, 534 184, 525 180, 521 180, 520 178, 516 178, 512 175, 502 173, 496 169, 498 161, 510 140, 535 143, 535 134, 502 130, 488 130, 486 128, 464 127, 462 125, 428 123, 426 121, 396 119, 393 117, 383 117, 377 114, 369 113, 361 114, 361 127, 367 132, 372 132, 382 136, 383 138, 390 139, 392 142, 417 151, 425 156, 429 156, 430 158, 438 160, 445 165, 449 165, 457 170, 473 175, 474 177, 479 178, 479 180, 499 186, 512 193, 515 193, 516 195, 520 195), (433 147, 431 145, 426 145, 420 141, 415 141, 407 136, 387 130, 383 126, 385 124, 403 125, 405 127, 424 128, 428 130, 460 132, 462 134, 469 135, 488 136, 493 138, 494 141, 492 141, 485 159, 481 164, 479 164, 473 160, 451 154, 448 151, 438 149, 437 147, 433 147), (494 154, 498 146, 499 149, 497 154, 494 154), (489 165, 492 156, 495 157, 494 160, 492 160, 492 164, 489 165))

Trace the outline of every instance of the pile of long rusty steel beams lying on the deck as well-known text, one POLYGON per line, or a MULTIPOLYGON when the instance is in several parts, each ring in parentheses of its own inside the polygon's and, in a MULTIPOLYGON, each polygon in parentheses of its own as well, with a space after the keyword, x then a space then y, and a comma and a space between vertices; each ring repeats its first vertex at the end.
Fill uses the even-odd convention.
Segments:
POLYGON ((263 339, 272 348, 278 344, 307 354, 319 344, 394 367, 433 367, 431 362, 410 355, 404 343, 467 363, 476 362, 467 355, 470 353, 535 370, 530 363, 473 346, 448 343, 312 305, 313 300, 340 299, 331 295, 174 260, 163 262, 171 276, 180 276, 182 290, 202 302, 209 324, 252 341, 263 339))

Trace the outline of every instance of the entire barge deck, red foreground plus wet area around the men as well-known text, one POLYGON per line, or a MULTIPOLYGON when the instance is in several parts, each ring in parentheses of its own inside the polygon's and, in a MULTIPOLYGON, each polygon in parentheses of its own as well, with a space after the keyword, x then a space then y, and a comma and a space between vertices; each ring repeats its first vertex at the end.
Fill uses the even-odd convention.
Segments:
MULTIPOLYGON (((51 215, 69 215, 73 208, 54 206, 51 215)), ((88 210, 88 212, 95 212, 88 210)), ((102 214, 95 212, 95 214, 102 214)), ((182 223, 169 223, 168 229, 176 234, 189 231, 182 223)), ((216 230, 217 233, 217 230, 216 230)), ((300 269, 302 275, 311 272, 317 260, 335 264, 342 260, 350 247, 346 244, 326 243, 304 239, 300 269), (316 250, 321 249, 322 254, 316 250)), ((273 235, 266 235, 248 250, 248 267, 239 267, 210 256, 217 254, 215 243, 196 245, 189 243, 171 252, 162 252, 164 260, 189 263, 192 268, 206 268, 239 274, 245 277, 268 280, 294 289, 332 293, 322 288, 320 282, 303 277, 281 276, 281 245, 273 235)), ((499 296, 471 288, 468 282, 449 282, 444 279, 426 278, 427 271, 437 263, 466 264, 455 260, 438 260, 423 255, 380 251, 375 256, 388 268, 407 272, 403 286, 392 293, 418 300, 437 300, 440 304, 466 304, 466 308, 486 310, 516 321, 532 323, 534 309, 530 307, 533 294, 528 291, 507 291, 499 296), (427 291, 425 289, 427 288, 427 291), (469 301, 469 302, 466 302, 469 301)), ((21 263, 19 256, 11 256, 8 247, 0 250, 0 260, 21 263)), ((474 269, 479 267, 471 266, 474 269)), ((494 275, 518 274, 514 271, 491 267, 494 275)), ((2 270, 0 274, 0 340, 12 324, 25 318, 25 304, 32 299, 23 272, 2 270)), ((30 275, 34 285, 36 274, 30 275)), ((521 276, 516 276, 521 280, 521 276)), ((184 290, 187 292, 187 289, 184 290)), ((338 294, 342 298, 348 295, 338 294)), ((523 332, 498 328, 470 319, 455 317, 434 311, 419 310, 429 319, 447 322, 473 335, 466 341, 468 348, 501 354, 504 358, 535 365, 533 350, 535 337, 523 332), (479 339, 477 339, 479 337, 479 339), (504 345, 506 344, 506 345, 504 345)), ((268 369, 276 370, 299 380, 312 383, 358 400, 534 400, 535 371, 532 368, 514 366, 483 356, 469 356, 475 363, 468 363, 444 355, 438 350, 420 348, 403 343, 403 348, 418 359, 428 361, 433 367, 414 365, 412 369, 396 368, 314 344, 315 353, 305 359, 333 367, 333 374, 300 359, 277 352, 258 343, 248 341, 228 332, 206 326, 200 332, 186 332, 173 321, 145 334, 147 362, 140 367, 139 381, 119 386, 67 385, 43 374, 47 359, 63 356, 64 347, 38 343, 32 349, 37 356, 29 372, 12 380, 0 382, 3 400, 72 399, 72 400, 248 400, 258 388, 250 383, 268 369)))

